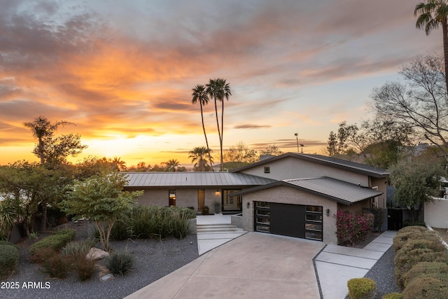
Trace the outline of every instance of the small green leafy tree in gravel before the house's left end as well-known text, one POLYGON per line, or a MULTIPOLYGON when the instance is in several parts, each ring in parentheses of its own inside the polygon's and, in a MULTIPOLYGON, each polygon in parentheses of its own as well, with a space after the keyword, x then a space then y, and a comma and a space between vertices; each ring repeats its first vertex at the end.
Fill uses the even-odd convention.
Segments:
POLYGON ((109 250, 113 225, 130 211, 143 191, 123 191, 127 184, 125 174, 119 172, 94 175, 85 181, 75 181, 69 199, 62 209, 70 215, 89 218, 99 231, 99 241, 109 250))

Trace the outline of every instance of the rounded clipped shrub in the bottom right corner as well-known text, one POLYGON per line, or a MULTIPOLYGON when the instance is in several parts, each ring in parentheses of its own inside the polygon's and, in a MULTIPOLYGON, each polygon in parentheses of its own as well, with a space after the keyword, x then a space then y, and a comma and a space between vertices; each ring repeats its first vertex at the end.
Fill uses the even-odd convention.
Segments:
POLYGON ((448 298, 447 281, 433 277, 413 279, 403 291, 403 299, 445 299, 448 298))

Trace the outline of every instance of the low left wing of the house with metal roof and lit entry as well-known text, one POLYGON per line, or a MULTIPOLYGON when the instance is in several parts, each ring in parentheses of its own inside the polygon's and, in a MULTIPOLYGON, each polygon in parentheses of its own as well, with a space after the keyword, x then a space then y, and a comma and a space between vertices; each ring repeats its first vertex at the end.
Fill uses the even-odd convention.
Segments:
POLYGON ((193 207, 201 211, 215 203, 223 212, 241 211, 241 197, 231 195, 275 180, 231 172, 128 172, 125 190, 144 190, 139 203, 158 206, 193 207))

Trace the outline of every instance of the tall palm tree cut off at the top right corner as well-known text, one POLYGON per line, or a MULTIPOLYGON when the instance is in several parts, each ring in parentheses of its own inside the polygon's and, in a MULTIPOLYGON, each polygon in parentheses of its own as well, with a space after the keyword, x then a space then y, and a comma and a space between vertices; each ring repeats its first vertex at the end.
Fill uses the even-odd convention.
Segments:
POLYGON ((442 26, 443 55, 445 62, 445 84, 448 90, 448 1, 426 0, 415 6, 414 16, 418 16, 415 24, 418 29, 425 29, 426 35, 431 30, 442 26))

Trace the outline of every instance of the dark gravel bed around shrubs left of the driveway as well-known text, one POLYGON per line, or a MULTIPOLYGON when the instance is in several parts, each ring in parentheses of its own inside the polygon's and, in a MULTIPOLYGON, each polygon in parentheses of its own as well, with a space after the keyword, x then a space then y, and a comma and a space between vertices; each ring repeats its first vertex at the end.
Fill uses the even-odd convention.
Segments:
MULTIPOLYGON (((80 239, 86 230, 78 228, 77 231, 76 239, 80 239)), ((39 270, 39 265, 28 262, 30 244, 30 239, 18 243, 20 260, 17 272, 1 281, 0 298, 123 298, 198 257, 196 235, 188 235, 185 239, 167 237, 162 240, 111 242, 113 251, 127 250, 132 253, 133 270, 124 277, 100 281, 99 278, 105 274, 102 260, 97 262, 99 267, 94 277, 81 282, 75 273, 69 274, 66 279, 49 278, 39 270)))

